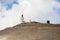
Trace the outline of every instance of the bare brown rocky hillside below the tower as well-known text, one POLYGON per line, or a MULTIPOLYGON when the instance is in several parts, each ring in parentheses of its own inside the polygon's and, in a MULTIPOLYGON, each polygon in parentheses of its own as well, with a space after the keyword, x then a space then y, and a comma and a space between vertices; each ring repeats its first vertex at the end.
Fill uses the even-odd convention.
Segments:
POLYGON ((60 40, 60 24, 19 24, 0 31, 0 40, 60 40))

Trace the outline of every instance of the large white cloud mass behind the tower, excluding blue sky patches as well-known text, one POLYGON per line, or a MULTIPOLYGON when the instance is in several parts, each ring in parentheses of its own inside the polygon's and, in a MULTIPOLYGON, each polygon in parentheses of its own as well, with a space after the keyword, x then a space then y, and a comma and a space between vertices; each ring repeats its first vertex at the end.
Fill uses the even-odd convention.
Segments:
POLYGON ((55 0, 19 0, 19 5, 14 5, 12 10, 2 12, 5 17, 0 18, 0 29, 19 24, 22 11, 25 21, 46 23, 49 19, 51 23, 59 23, 60 15, 52 8, 59 5, 55 0))

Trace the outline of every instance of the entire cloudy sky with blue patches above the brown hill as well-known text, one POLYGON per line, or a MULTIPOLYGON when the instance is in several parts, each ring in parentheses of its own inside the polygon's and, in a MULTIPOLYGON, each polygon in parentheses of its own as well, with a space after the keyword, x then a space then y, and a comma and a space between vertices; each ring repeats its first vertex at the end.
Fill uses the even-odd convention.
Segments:
POLYGON ((60 24, 60 0, 0 0, 0 30, 26 22, 60 24))

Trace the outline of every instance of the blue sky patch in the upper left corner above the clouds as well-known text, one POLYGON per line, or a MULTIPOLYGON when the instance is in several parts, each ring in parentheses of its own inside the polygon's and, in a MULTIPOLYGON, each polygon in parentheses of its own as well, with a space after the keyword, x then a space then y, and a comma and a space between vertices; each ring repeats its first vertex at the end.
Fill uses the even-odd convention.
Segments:
MULTIPOLYGON (((14 4, 18 4, 18 0, 0 0, 1 6, 6 8, 6 10, 12 9, 14 4)), ((1 9, 0 9, 1 10, 1 9)))

